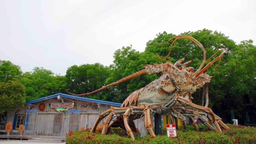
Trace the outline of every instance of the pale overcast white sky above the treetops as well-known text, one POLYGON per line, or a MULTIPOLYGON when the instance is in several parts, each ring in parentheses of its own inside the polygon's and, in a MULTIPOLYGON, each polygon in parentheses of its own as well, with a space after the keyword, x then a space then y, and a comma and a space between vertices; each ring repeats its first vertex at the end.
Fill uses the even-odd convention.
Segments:
POLYGON ((163 31, 207 28, 255 45, 255 22, 255 0, 0 0, 0 60, 65 75, 72 65, 112 64, 122 46, 143 52, 163 31))

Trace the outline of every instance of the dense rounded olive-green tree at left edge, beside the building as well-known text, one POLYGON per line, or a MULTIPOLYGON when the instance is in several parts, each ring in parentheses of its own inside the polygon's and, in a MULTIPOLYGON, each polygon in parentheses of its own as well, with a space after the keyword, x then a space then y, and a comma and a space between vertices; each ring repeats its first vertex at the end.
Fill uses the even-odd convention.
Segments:
POLYGON ((24 106, 25 87, 13 78, 0 83, 0 114, 24 106))

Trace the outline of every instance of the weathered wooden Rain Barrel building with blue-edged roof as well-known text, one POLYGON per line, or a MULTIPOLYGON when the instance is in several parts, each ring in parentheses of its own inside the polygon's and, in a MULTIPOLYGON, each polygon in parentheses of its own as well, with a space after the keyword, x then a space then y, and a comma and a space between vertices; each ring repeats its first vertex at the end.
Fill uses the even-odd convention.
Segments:
MULTIPOLYGON (((23 124, 24 135, 63 137, 69 131, 79 130, 85 125, 92 128, 99 114, 110 106, 120 107, 121 103, 57 93, 27 101, 24 107, 7 112, 6 122, 13 123, 11 134, 23 124)), ((135 124, 141 136, 144 136, 146 129, 143 118, 135 120, 135 124)))

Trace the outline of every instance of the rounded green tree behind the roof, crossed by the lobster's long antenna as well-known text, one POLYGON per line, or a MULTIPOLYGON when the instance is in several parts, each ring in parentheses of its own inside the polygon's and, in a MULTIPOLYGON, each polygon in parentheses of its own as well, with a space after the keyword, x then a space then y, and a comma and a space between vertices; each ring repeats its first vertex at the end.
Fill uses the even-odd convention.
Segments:
MULTIPOLYGON (((71 93, 88 93, 97 90, 105 85, 110 74, 110 68, 100 63, 73 65, 68 68, 66 78, 68 89, 71 93)), ((101 91, 95 93, 91 98, 109 100, 109 92, 101 91)))

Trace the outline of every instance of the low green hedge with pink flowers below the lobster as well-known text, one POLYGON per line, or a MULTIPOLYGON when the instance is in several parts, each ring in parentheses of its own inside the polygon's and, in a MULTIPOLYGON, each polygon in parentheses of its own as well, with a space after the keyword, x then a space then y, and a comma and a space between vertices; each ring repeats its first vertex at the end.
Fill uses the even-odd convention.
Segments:
POLYGON ((85 144, 85 143, 104 143, 104 144, 170 144, 170 143, 256 143, 256 128, 250 126, 233 126, 228 124, 230 130, 222 130, 223 133, 209 131, 204 125, 199 125, 200 132, 197 132, 193 126, 188 125, 187 129, 179 128, 177 138, 168 138, 166 129, 163 129, 163 135, 145 136, 139 138, 140 133, 134 133, 135 141, 132 141, 125 131, 120 128, 111 128, 110 134, 101 135, 100 133, 90 133, 86 131, 70 131, 66 137, 67 144, 85 144))

